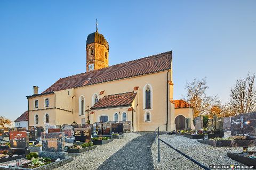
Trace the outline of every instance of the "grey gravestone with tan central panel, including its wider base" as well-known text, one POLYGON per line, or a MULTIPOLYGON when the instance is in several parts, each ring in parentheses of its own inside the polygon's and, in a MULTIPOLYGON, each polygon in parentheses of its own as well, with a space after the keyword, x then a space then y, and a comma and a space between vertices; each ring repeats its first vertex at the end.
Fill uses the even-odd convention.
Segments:
POLYGON ((64 132, 42 133, 42 152, 38 153, 39 157, 65 159, 67 157, 67 152, 64 152, 64 149, 64 132))

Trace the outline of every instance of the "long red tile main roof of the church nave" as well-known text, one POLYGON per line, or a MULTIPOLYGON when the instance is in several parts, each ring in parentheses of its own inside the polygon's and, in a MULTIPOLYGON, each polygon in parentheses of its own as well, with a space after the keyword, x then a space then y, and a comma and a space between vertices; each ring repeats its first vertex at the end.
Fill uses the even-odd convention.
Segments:
POLYGON ((125 79, 171 69, 172 52, 165 52, 103 69, 59 79, 42 92, 60 91, 118 79, 125 79))

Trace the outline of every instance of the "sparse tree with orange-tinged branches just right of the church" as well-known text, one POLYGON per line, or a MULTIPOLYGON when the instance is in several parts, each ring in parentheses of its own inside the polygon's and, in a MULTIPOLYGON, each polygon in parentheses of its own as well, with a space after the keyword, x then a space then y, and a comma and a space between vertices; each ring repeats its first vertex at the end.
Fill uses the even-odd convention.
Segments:
POLYGON ((210 114, 212 106, 219 104, 217 96, 206 95, 206 89, 209 89, 206 78, 202 80, 194 79, 186 83, 187 95, 185 100, 194 107, 194 117, 210 114))

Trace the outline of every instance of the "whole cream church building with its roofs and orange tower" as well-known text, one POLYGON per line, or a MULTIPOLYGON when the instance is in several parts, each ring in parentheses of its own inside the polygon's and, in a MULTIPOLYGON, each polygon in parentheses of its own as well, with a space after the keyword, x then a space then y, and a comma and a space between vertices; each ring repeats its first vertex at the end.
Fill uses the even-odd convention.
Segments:
POLYGON ((175 130, 172 52, 108 66, 108 50, 97 29, 87 37, 85 73, 59 79, 41 94, 34 87, 27 96, 29 126, 85 124, 89 115, 90 123, 130 121, 131 131, 175 130))

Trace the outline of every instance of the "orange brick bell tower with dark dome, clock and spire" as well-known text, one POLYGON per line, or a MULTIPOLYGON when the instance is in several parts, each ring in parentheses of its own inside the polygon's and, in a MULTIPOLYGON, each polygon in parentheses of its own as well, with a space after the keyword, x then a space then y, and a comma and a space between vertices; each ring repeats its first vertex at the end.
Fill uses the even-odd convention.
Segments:
POLYGON ((98 32, 96 20, 96 32, 89 34, 86 40, 86 72, 108 67, 108 41, 98 32))

